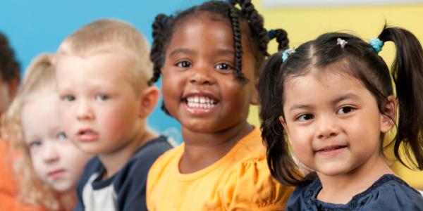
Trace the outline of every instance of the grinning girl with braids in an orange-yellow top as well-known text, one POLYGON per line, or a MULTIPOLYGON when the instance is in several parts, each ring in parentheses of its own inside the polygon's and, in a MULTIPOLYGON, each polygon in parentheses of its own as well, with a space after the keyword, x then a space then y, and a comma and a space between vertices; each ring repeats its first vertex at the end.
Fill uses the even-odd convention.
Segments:
MULTIPOLYGON (((286 32, 279 30, 286 47, 286 32)), ((157 15, 151 58, 163 76, 164 109, 184 143, 162 155, 147 180, 149 210, 275 210, 291 188, 266 165, 259 129, 247 122, 256 103, 267 32, 250 1, 209 1, 157 15)))

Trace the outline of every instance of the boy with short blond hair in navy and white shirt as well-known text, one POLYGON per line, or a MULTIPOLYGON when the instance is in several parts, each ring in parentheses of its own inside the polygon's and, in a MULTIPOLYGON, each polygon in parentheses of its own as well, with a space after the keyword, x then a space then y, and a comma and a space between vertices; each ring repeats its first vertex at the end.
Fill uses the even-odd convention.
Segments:
POLYGON ((62 122, 78 148, 97 156, 78 184, 76 210, 147 210, 147 172, 171 148, 147 129, 159 98, 149 46, 135 27, 97 20, 59 47, 56 81, 62 122))

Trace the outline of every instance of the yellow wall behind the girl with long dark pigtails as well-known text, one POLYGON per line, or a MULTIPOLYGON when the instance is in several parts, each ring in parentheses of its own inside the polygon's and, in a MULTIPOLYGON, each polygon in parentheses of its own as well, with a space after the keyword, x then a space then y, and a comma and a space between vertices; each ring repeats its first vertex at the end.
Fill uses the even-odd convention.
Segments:
MULTIPOLYGON (((267 29, 282 27, 288 32, 291 47, 333 31, 351 32, 369 40, 381 32, 385 20, 388 25, 410 30, 423 43, 423 4, 269 9, 263 8, 260 0, 253 3, 264 15, 267 29)), ((269 52, 276 52, 276 43, 271 43, 269 52)), ((386 44, 380 55, 390 65, 395 56, 393 44, 386 44)), ((249 120, 259 125, 257 106, 252 106, 249 120)), ((423 190, 423 172, 412 172, 398 164, 393 169, 408 184, 423 190)))

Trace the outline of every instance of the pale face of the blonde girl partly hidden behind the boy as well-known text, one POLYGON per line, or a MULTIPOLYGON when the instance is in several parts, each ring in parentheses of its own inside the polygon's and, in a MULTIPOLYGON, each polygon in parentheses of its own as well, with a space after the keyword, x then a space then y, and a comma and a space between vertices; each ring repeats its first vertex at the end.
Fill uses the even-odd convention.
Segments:
POLYGON ((57 94, 35 96, 25 103, 21 115, 25 143, 39 179, 59 192, 73 190, 90 155, 66 138, 58 118, 57 94))

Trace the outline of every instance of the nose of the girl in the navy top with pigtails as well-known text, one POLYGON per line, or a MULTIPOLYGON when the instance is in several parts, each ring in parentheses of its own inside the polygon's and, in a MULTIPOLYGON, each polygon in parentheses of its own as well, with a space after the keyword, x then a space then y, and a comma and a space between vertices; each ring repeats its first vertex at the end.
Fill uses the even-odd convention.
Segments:
POLYGON ((319 117, 317 129, 318 139, 329 139, 331 137, 338 136, 341 131, 341 127, 336 121, 336 117, 332 115, 324 115, 319 117))

